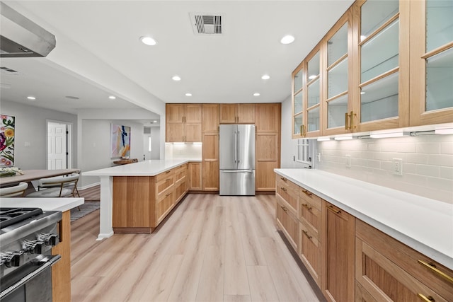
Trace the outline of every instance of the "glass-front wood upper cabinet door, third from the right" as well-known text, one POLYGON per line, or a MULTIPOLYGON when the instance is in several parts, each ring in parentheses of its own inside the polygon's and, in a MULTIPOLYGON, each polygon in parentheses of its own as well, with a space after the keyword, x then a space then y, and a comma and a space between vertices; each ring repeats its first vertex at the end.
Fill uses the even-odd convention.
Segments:
POLYGON ((323 66, 323 91, 326 96, 321 120, 323 135, 350 132, 348 116, 353 110, 350 79, 352 76, 352 11, 348 10, 327 33, 322 46, 326 51, 323 66))

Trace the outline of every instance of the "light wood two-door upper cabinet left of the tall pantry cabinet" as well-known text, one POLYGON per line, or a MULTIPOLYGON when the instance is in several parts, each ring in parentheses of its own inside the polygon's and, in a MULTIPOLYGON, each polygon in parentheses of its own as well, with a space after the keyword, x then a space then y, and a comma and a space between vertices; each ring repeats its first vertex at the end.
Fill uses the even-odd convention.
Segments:
POLYGON ((166 141, 201 141, 202 107, 200 104, 166 104, 166 141))

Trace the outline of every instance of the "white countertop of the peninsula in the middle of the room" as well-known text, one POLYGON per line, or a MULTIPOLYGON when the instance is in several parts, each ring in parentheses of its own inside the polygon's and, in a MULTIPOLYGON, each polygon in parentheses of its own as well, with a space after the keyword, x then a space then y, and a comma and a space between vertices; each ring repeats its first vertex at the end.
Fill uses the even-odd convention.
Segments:
POLYGON ((164 159, 139 161, 138 163, 128 163, 127 165, 117 165, 115 167, 92 170, 82 173, 86 176, 155 176, 172 168, 188 163, 188 159, 164 159))

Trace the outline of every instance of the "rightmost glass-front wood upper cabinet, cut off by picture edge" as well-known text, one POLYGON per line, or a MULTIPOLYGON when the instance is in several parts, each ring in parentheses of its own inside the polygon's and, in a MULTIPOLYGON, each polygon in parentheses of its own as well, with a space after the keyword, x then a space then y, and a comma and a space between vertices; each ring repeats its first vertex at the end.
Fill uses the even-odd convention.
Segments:
POLYGON ((453 122, 453 1, 411 1, 411 126, 453 122))

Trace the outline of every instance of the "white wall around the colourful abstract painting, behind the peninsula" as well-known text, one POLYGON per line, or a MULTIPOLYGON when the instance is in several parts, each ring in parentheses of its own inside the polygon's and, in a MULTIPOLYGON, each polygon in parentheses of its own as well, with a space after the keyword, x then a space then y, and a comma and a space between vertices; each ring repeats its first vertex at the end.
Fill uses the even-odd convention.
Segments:
MULTIPOLYGON (((82 120, 81 168, 82 172, 115 165, 118 158, 110 157, 110 124, 130 126, 130 158, 143 161, 143 124, 131 120, 82 120)), ((97 176, 82 176, 81 187, 99 182, 97 176)))

